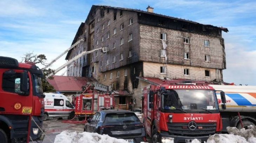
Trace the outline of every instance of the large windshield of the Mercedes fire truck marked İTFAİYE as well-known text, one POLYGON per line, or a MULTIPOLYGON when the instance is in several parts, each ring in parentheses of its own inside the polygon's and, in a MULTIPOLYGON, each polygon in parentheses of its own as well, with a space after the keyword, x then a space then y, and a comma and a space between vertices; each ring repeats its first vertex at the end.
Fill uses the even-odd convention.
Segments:
POLYGON ((167 90, 162 94, 163 110, 217 110, 218 104, 213 90, 167 90))

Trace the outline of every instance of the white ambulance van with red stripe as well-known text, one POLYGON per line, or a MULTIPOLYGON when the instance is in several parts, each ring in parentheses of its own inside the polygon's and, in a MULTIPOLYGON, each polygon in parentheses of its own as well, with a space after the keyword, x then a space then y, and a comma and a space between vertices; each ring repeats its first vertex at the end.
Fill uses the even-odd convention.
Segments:
POLYGON ((69 102, 68 98, 59 93, 44 93, 45 94, 45 111, 43 120, 75 116, 75 108, 69 102))

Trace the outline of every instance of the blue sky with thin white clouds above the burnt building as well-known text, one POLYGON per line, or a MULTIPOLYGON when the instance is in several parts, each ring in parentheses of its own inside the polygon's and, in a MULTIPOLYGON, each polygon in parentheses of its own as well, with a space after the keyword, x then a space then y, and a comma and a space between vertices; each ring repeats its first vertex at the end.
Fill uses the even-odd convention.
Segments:
POLYGON ((256 2, 250 0, 0 0, 0 56, 20 61, 34 51, 50 62, 70 46, 92 5, 141 10, 150 5, 158 14, 226 27, 224 81, 256 85, 256 2))

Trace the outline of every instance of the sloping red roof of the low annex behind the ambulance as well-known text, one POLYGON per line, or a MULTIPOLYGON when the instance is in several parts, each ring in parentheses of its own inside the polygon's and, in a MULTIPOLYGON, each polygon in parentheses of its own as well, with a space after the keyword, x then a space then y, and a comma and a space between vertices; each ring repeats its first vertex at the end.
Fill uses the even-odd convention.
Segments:
POLYGON ((54 79, 47 81, 55 88, 56 91, 82 91, 82 86, 86 86, 87 82, 95 82, 92 77, 76 77, 76 76, 58 76, 54 75, 54 79))

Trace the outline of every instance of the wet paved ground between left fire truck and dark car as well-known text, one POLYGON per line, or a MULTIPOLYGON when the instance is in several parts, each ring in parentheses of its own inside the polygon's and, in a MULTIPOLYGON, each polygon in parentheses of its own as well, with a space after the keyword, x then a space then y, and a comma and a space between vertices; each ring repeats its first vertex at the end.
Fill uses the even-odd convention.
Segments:
MULTIPOLYGON (((60 134, 64 130, 83 132, 85 123, 62 123, 62 120, 52 119, 43 122, 43 129, 46 135, 54 142, 55 136, 60 134)), ((32 143, 32 142, 30 142, 32 143)), ((36 142, 34 142, 36 143, 36 142)), ((42 143, 51 143, 47 137, 42 143)))

